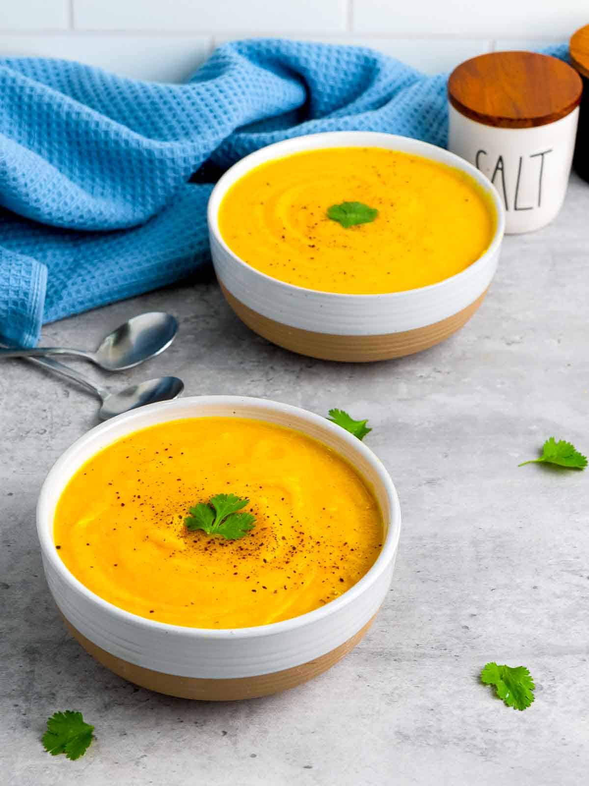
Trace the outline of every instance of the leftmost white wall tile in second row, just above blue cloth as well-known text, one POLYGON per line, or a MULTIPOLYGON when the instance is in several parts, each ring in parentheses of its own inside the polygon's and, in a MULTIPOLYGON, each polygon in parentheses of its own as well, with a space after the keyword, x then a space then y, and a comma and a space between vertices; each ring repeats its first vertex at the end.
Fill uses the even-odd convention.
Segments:
POLYGON ((207 59, 210 38, 128 35, 2 35, 0 57, 63 57, 131 79, 185 82, 207 59))

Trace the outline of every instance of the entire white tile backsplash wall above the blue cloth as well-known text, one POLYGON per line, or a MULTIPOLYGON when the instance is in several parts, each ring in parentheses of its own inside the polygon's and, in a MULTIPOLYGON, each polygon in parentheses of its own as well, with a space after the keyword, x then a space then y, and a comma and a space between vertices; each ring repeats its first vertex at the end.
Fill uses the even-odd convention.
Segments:
POLYGON ((256 35, 370 46, 426 73, 539 49, 589 23, 589 0, 0 0, 0 57, 66 57, 187 79, 213 43, 256 35))

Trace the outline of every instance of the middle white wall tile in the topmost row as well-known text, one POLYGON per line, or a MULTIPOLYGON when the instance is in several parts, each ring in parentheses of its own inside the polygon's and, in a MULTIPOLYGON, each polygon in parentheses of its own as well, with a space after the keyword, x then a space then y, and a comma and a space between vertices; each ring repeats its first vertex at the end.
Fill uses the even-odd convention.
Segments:
POLYGON ((73 0, 80 30, 344 31, 348 0, 73 0))

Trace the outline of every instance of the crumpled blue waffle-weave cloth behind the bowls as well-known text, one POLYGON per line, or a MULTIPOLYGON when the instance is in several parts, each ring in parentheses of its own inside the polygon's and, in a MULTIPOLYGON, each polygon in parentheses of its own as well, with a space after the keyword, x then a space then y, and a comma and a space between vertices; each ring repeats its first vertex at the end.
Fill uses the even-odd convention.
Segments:
POLYGON ((0 58, 0 338, 34 346, 43 322, 189 277, 208 260, 207 178, 264 145, 444 145, 445 87, 368 49, 276 39, 219 47, 185 85, 0 58))

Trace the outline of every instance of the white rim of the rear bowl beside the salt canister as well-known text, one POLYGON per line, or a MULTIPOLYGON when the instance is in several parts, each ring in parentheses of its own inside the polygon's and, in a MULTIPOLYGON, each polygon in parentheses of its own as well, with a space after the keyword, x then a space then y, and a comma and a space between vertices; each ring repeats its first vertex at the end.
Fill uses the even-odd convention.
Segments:
MULTIPOLYGON (((378 144, 372 146, 382 147, 382 145, 378 145, 378 144)), ((383 149, 391 150, 393 152, 397 150, 398 152, 409 152, 408 150, 404 150, 402 148, 397 149, 388 146, 383 149)), ((420 153, 418 152, 415 152, 413 154, 416 156, 420 155, 420 153)), ((424 142, 421 139, 414 139, 413 137, 404 137, 401 134, 386 134, 380 131, 323 131, 318 134, 302 134, 299 137, 289 137, 288 139, 283 139, 280 142, 274 142, 272 145, 265 145, 265 147, 262 147, 258 150, 254 150, 254 152, 249 153, 247 156, 243 156, 243 158, 241 158, 239 161, 236 161, 236 163, 232 164, 232 166, 229 167, 229 169, 224 174, 221 175, 221 178, 219 178, 218 182, 215 184, 214 189, 210 192, 209 201, 207 204, 207 222, 208 222, 209 230, 212 234, 214 234, 215 241, 217 241, 218 244, 221 245, 223 251, 229 254, 229 256, 232 258, 234 262, 240 264, 247 270, 251 270, 252 273, 261 276, 266 281, 272 281, 274 284, 280 285, 284 289, 291 289, 291 290, 294 289, 295 291, 301 292, 302 294, 304 294, 305 292, 313 292, 313 294, 327 296, 333 299, 348 299, 352 297, 376 298, 382 296, 386 296, 387 298, 402 297, 404 295, 407 295, 408 292, 418 292, 418 291, 425 292, 427 290, 439 288, 441 287, 441 285, 446 284, 447 281, 459 281, 461 277, 467 277, 468 275, 471 274, 471 271, 475 270, 478 267, 484 266, 488 262, 488 259, 492 257, 492 255, 495 255, 497 249, 499 248, 499 245, 501 244, 501 241, 503 241, 503 234, 505 233, 505 221, 506 221, 505 209, 503 208, 503 203, 499 198, 499 194, 497 193, 495 186, 492 185, 492 182, 486 177, 486 175, 482 174, 481 171, 477 170, 477 167, 474 167, 473 164, 470 163, 470 161, 460 158, 460 156, 457 156, 455 153, 450 152, 446 148, 438 147, 437 145, 431 145, 430 142, 424 142), (424 151, 424 154, 422 156, 423 158, 426 159, 429 158, 429 156, 426 155, 426 152, 428 150, 435 150, 438 152, 438 154, 441 151, 444 154, 444 156, 448 156, 448 160, 449 160, 448 162, 446 161, 441 162, 438 161, 437 159, 431 159, 431 158, 429 158, 429 160, 435 160, 437 161, 437 163, 445 163, 448 167, 452 167, 453 166, 452 162, 455 162, 454 164, 455 169, 459 169, 460 171, 466 172, 466 174, 470 174, 470 176, 474 179, 474 181, 477 182, 477 185, 480 185, 481 189, 483 189, 485 193, 488 194, 488 196, 491 198, 493 207, 495 208, 497 226, 495 228, 495 233, 493 234, 493 239, 489 244, 488 248, 485 250, 485 253, 482 254, 478 259, 475 259, 473 263, 470 263, 469 266, 465 267, 464 270, 461 270, 459 273, 455 273, 453 276, 448 276, 448 278, 443 278, 441 281, 436 281, 435 284, 428 284, 424 287, 416 287, 413 289, 403 289, 401 290, 401 292, 355 292, 355 293, 326 292, 324 289, 311 289, 307 287, 300 287, 297 284, 289 284, 287 281, 281 281, 280 278, 273 278, 272 276, 269 276, 267 273, 262 273, 262 270, 258 270, 257 268, 251 266, 249 263, 241 259, 241 257, 237 256, 236 253, 233 252, 231 248, 229 248, 229 246, 225 243, 225 240, 221 235, 221 230, 219 230, 219 224, 218 224, 219 208, 221 207, 223 197, 229 191, 231 185, 234 185, 235 182, 245 177, 245 175, 248 172, 250 172, 252 169, 254 169, 256 166, 258 166, 258 164, 261 165, 262 163, 269 163, 270 161, 273 160, 286 158, 287 156, 296 155, 296 153, 298 152, 321 150, 321 149, 329 148, 331 146, 335 146, 335 147, 368 146, 367 142, 362 142, 361 144, 357 144, 357 145, 354 145, 353 142, 350 142, 349 145, 321 144, 322 141, 329 141, 337 138, 342 138, 343 136, 349 136, 349 134, 352 135, 357 134, 362 138, 373 139, 375 142, 378 139, 381 140, 394 139, 394 140, 401 140, 401 144, 402 144, 403 141, 409 140, 415 145, 417 145, 419 149, 423 149, 424 151), (280 151, 284 150, 285 148, 287 149, 290 148, 293 143, 296 144, 296 142, 299 140, 306 140, 310 138, 316 138, 318 142, 316 147, 303 146, 300 150, 290 150, 290 152, 280 155, 280 151), (276 156, 270 156, 267 158, 265 154, 267 154, 267 152, 270 150, 276 152, 276 156), (251 164, 251 166, 246 166, 247 163, 251 164), (236 178, 234 182, 232 182, 229 185, 226 185, 227 181, 229 181, 232 178, 232 173, 235 171, 236 167, 242 167, 243 172, 240 174, 238 178, 236 178), (214 200, 218 200, 218 205, 216 206, 216 208, 213 208, 214 200)))

